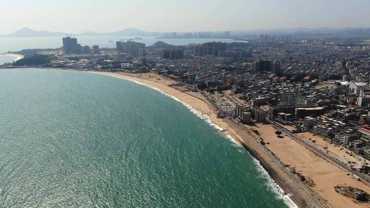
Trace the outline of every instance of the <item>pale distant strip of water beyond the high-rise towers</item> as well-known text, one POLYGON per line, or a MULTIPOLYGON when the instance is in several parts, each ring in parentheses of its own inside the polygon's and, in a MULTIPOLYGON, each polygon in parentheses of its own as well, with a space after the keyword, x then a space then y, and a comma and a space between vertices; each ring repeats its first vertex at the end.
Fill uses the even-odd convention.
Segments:
MULTIPOLYGON (((93 46, 95 44, 99 47, 115 48, 116 41, 130 40, 137 36, 76 36, 78 42, 82 45, 93 46)), ((163 41, 168 44, 185 45, 190 43, 204 43, 210 41, 234 42, 231 39, 217 39, 217 38, 154 38, 141 37, 143 40, 135 40, 136 42, 143 42, 147 46, 157 42, 163 41)), ((8 51, 21 51, 22 49, 56 49, 62 47, 62 37, 42 37, 42 38, 0 38, 0 53, 8 51)))

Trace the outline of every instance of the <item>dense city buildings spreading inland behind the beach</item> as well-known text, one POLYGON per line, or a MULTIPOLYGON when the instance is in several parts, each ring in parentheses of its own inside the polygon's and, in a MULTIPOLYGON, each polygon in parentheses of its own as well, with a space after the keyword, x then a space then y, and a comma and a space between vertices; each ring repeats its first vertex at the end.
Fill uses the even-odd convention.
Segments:
MULTIPOLYGON (((58 49, 37 50, 42 58, 49 57, 41 60, 42 66, 151 72, 149 77, 156 74, 158 83, 171 80, 175 83, 171 88, 210 101, 219 118, 256 131, 267 151, 271 135, 258 133, 269 125, 277 143, 283 138, 299 141, 307 149, 328 154, 322 157, 331 164, 370 181, 370 44, 363 38, 263 34, 248 42, 179 47, 160 41, 146 47, 119 41, 116 49, 94 46, 92 50, 80 47, 75 38, 64 38, 63 45, 62 55, 58 49)), ((32 63, 40 63, 40 56, 30 56, 18 66, 32 58, 37 59, 32 63)), ((282 166, 304 179, 288 164, 282 166)))

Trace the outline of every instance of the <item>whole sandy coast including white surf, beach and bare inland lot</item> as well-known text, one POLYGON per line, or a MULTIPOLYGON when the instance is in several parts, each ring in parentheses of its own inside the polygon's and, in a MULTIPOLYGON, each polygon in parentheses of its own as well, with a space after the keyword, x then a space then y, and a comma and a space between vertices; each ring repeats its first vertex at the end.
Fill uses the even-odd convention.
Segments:
MULTIPOLYGON (((352 178, 348 172, 323 159, 304 145, 299 144, 289 135, 277 138, 273 125, 257 124, 254 127, 241 127, 228 118, 217 118, 217 109, 212 101, 199 92, 179 85, 177 81, 161 77, 154 73, 132 74, 123 72, 101 72, 77 70, 75 68, 42 68, 44 70, 69 70, 84 73, 95 73, 134 81, 135 83, 153 88, 158 92, 179 101, 191 112, 208 122, 216 129, 223 130, 225 137, 243 146, 253 157, 261 169, 261 174, 268 174, 269 187, 282 197, 290 207, 368 207, 369 203, 356 203, 354 200, 335 192, 336 185, 358 187, 370 193, 370 187, 352 178), (258 131, 258 135, 254 131, 258 131), (225 131, 225 132, 224 132, 225 131), (263 138, 265 145, 260 144, 263 138), (291 168, 303 174, 314 185, 301 182, 291 168)), ((221 131, 220 131, 221 133, 221 131)))

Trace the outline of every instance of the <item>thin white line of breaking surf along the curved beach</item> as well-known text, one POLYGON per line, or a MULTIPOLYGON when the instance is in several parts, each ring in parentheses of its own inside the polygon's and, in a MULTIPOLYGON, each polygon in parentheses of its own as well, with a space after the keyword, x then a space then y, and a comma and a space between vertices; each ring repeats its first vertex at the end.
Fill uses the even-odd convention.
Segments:
MULTIPOLYGON (((148 88, 151 88, 153 90, 156 90, 156 91, 160 92, 161 94, 164 94, 166 96, 169 96, 171 99, 174 99, 175 101, 177 101, 177 102, 181 103, 182 105, 184 105, 185 107, 187 107, 190 110, 190 112, 192 112, 193 114, 197 115, 202 120, 206 121, 208 123, 208 125, 210 125, 211 127, 214 127, 214 129, 217 129, 219 131, 223 131, 224 130, 223 128, 221 128, 218 125, 214 124, 214 122, 212 122, 212 120, 210 119, 210 116, 202 114, 201 112, 197 111, 197 109, 194 109, 188 103, 185 103, 184 101, 181 101, 180 99, 177 99, 177 97, 172 96, 171 94, 167 94, 166 92, 163 92, 162 90, 160 90, 158 88, 155 88, 153 86, 149 86, 149 85, 147 85, 145 83, 141 83, 140 81, 136 81, 134 79, 130 79, 130 78, 126 78, 126 77, 118 77, 118 76, 114 76, 114 77, 125 79, 125 80, 128 80, 128 81, 132 81, 132 82, 137 83, 137 84, 139 84, 141 86, 147 86, 148 88)), ((223 134, 225 136, 225 138, 227 138, 231 142, 233 142, 232 143, 233 146, 236 145, 237 148, 240 148, 241 147, 241 145, 238 142, 236 142, 236 140, 231 135, 229 135, 229 134, 227 134, 225 132, 223 132, 221 134, 223 134)), ((244 149, 243 150, 239 149, 238 151, 240 153, 245 153, 244 149)), ((247 153, 249 154, 249 152, 247 152, 247 153)), ((267 179, 267 181, 268 181, 267 182, 268 187, 276 194, 276 196, 278 198, 282 198, 282 200, 284 200, 284 203, 286 205, 288 205, 288 207, 290 207, 290 208, 299 208, 297 205, 295 205, 295 203, 293 202, 293 200, 291 200, 291 198, 289 198, 289 195, 288 194, 285 194, 284 190, 282 190, 282 188, 279 185, 277 185, 277 183, 273 180, 273 178, 271 178, 271 176, 269 175, 269 173, 266 170, 264 170, 264 168, 260 164, 260 161, 258 161, 258 159, 256 159, 252 155, 250 155, 250 156, 253 159, 254 163, 256 164, 257 170, 262 174, 262 176, 264 178, 267 179)))

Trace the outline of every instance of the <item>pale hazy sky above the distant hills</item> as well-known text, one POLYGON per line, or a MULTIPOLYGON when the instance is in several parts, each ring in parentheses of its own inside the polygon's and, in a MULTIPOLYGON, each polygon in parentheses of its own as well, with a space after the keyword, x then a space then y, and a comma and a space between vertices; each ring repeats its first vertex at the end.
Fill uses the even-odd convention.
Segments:
POLYGON ((370 0, 0 0, 0 34, 370 27, 370 0))

